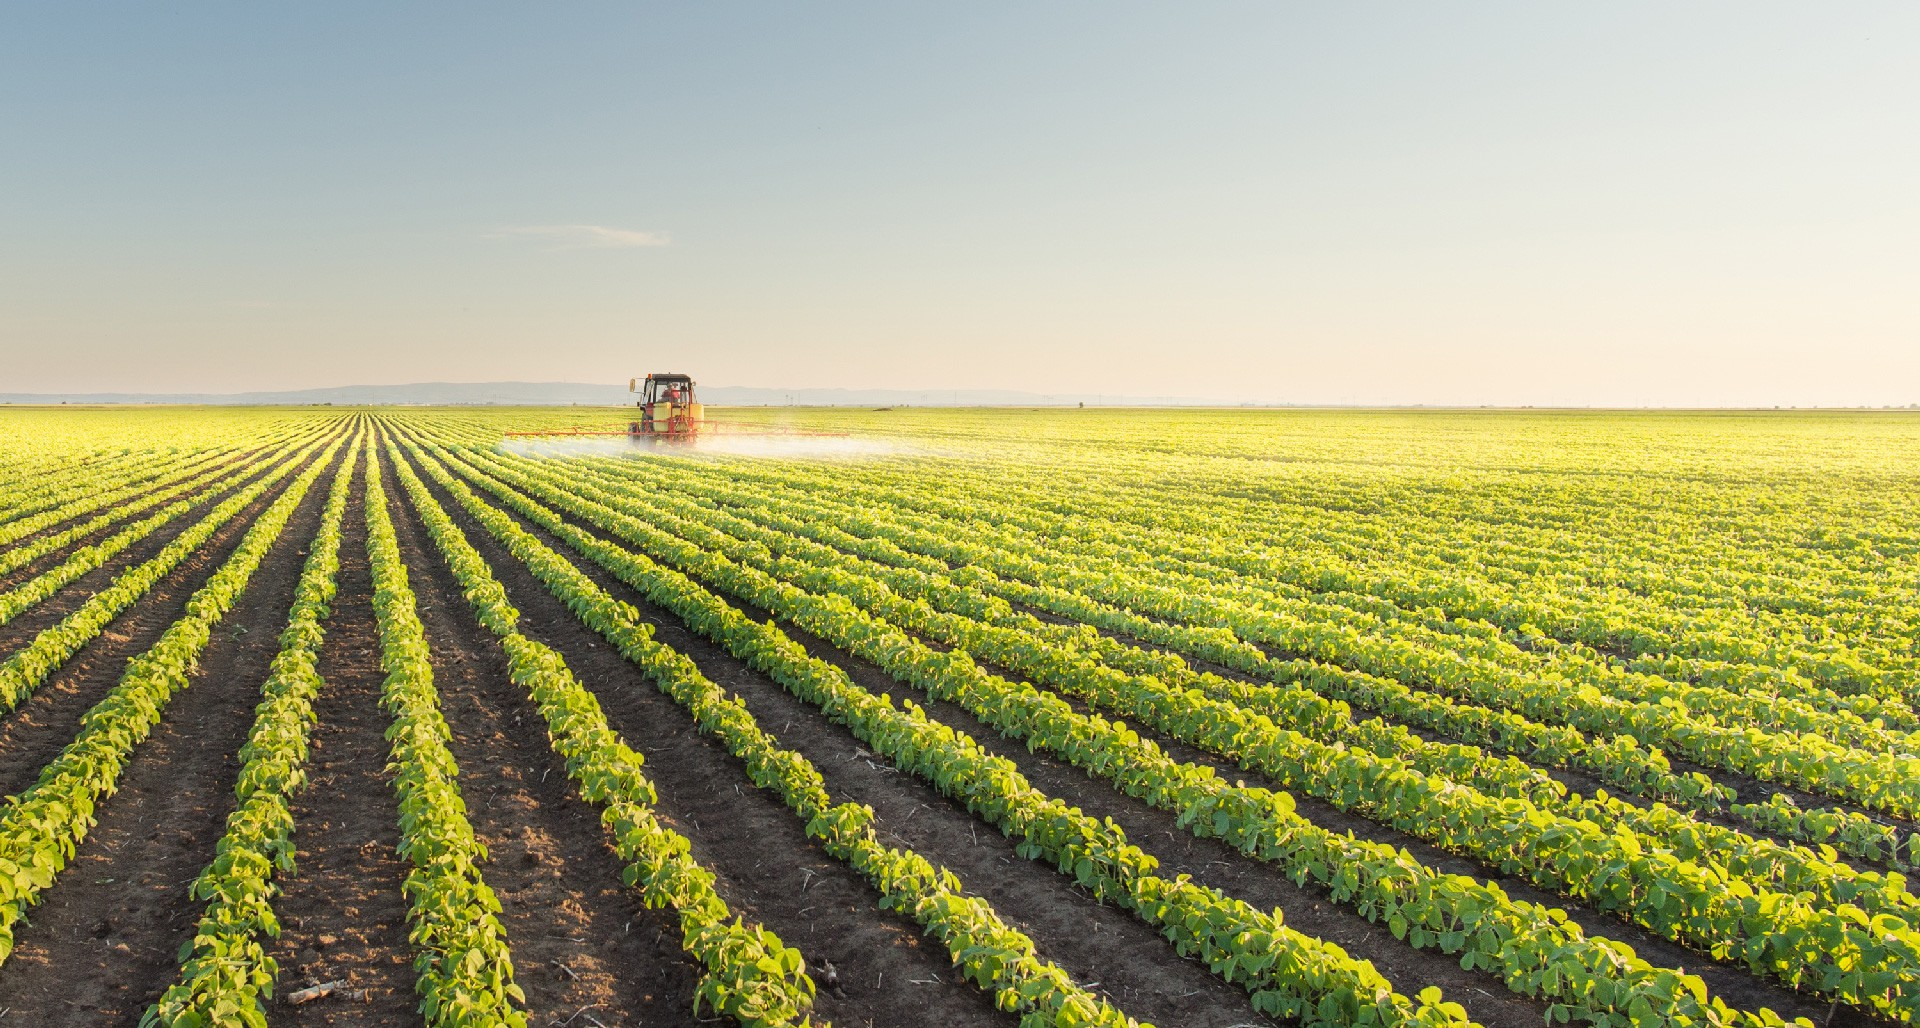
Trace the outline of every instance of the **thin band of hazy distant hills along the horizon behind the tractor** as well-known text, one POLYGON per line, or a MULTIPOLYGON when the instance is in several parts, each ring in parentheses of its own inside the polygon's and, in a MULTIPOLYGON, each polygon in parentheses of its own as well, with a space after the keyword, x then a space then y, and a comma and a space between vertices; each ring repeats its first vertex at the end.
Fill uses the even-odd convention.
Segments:
MULTIPOLYGON (((1018 390, 897 390, 897 388, 755 388, 701 386, 701 400, 714 405, 810 407, 1039 407, 1039 405, 1121 405, 1121 407, 1215 407, 1229 400, 1196 396, 1110 396, 1092 392, 1041 394, 1018 390)), ((411 382, 403 386, 332 386, 282 392, 0 392, 0 404, 484 404, 484 405, 616 405, 632 404, 626 382, 411 382)))

